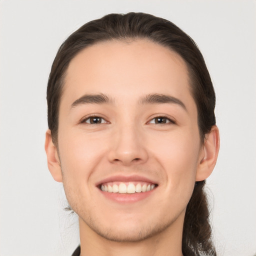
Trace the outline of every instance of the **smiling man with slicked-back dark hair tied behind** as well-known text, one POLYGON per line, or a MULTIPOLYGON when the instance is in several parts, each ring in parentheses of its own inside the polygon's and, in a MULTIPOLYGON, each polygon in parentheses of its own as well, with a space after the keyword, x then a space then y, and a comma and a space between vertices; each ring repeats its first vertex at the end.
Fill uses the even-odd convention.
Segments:
POLYGON ((74 255, 215 255, 202 190, 215 95, 182 30, 144 13, 84 24, 59 48, 47 102, 48 168, 79 218, 74 255))

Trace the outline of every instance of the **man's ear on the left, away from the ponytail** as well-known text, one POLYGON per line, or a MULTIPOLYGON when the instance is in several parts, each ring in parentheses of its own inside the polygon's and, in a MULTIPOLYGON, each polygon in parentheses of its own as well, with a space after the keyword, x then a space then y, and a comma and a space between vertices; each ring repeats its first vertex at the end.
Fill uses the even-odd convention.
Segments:
POLYGON ((48 169, 52 177, 56 181, 62 182, 62 174, 61 174, 60 161, 58 158, 57 148, 52 142, 51 132, 49 129, 45 133, 44 149, 47 155, 48 169))

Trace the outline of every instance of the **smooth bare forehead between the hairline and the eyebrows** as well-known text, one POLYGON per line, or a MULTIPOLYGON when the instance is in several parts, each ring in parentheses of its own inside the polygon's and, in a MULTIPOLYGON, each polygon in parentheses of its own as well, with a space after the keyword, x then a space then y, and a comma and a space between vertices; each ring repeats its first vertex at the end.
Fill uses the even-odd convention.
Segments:
POLYGON ((79 52, 67 68, 62 95, 73 102, 85 93, 117 100, 148 93, 191 97, 184 60, 148 40, 100 42, 79 52))

